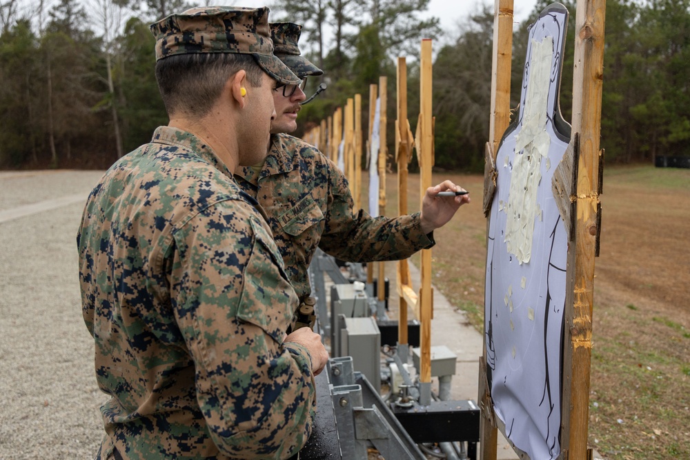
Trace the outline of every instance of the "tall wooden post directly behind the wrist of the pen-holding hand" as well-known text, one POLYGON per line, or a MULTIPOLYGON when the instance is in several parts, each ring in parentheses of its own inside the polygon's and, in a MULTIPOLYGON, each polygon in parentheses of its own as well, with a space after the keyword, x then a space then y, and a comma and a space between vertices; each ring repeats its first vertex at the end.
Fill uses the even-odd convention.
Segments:
MULTIPOLYGON (((426 188, 431 186, 431 168, 433 167, 433 130, 432 130, 432 61, 431 39, 422 39, 422 56, 420 59, 420 121, 422 139, 417 139, 417 159, 420 162, 420 209, 426 188)), ((431 291, 431 249, 422 250, 422 287, 420 289, 420 382, 431 383, 431 317, 433 297, 431 291)))

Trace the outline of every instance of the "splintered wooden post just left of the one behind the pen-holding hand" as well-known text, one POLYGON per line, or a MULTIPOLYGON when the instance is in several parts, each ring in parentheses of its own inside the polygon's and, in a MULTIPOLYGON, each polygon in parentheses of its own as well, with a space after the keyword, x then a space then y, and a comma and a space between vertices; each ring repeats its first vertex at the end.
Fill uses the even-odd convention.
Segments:
MULTIPOLYGON (((407 130, 407 63, 404 57, 397 58, 397 119, 395 121, 395 149, 397 161, 397 214, 407 214, 407 163, 410 146, 407 130)), ((397 341, 406 345, 407 337, 407 301, 403 295, 404 288, 410 286, 410 272, 407 259, 397 263, 397 292, 399 300, 397 341)))

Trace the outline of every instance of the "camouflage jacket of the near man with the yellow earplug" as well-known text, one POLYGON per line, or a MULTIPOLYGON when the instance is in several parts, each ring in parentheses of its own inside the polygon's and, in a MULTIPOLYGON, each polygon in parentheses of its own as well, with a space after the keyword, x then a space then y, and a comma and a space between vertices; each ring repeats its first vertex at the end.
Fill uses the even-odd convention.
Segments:
POLYGON ((124 459, 284 459, 311 433, 297 296, 255 201, 199 139, 161 127, 91 192, 77 235, 106 437, 124 459))

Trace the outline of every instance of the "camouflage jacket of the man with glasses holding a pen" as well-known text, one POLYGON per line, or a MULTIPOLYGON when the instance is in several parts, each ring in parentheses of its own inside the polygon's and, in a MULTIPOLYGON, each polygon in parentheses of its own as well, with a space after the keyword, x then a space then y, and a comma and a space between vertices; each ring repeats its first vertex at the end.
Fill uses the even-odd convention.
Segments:
POLYGON ((238 168, 240 187, 268 214, 273 238, 299 299, 311 293, 307 268, 316 248, 349 262, 398 260, 435 244, 419 212, 395 219, 354 213, 347 179, 324 154, 289 134, 272 134, 257 174, 238 168))

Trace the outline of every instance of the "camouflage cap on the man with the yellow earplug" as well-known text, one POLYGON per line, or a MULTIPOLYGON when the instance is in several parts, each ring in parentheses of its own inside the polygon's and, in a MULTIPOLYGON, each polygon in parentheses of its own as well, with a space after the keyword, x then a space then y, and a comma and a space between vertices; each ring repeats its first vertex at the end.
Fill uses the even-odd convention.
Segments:
POLYGON ((266 7, 191 8, 151 24, 150 29, 156 37, 156 60, 190 53, 251 54, 273 79, 286 85, 299 83, 273 54, 266 7))

